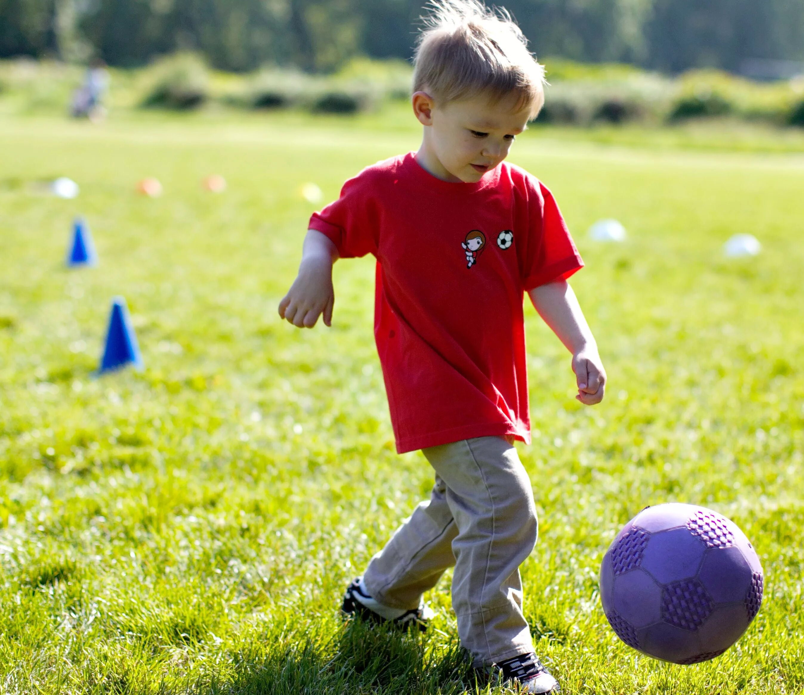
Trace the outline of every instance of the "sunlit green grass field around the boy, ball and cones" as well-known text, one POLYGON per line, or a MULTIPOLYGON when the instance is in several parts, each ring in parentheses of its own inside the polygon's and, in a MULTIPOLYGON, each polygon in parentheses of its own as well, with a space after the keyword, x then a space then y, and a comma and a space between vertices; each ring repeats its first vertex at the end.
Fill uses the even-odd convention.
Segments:
MULTIPOLYGON (((414 149, 412 128, 160 118, 0 124, 0 691, 461 693, 449 577, 425 638, 343 631, 338 599, 428 493, 396 456, 371 331, 373 266, 335 268, 332 329, 276 306, 313 206, 414 149), (214 196, 200 179, 220 173, 214 196), (32 182, 68 175, 75 201, 32 182), (156 176, 162 198, 133 193, 156 176), (100 266, 68 272, 72 217, 100 266), (146 360, 93 378, 113 295, 146 360)), ((804 691, 804 159, 575 142, 512 155, 556 194, 572 281, 609 371, 572 399, 527 314, 540 538, 523 568, 537 650, 565 693, 804 691), (585 238, 616 217, 630 240, 585 238), (748 231, 757 260, 721 246, 748 231), (678 667, 605 621, 597 569, 644 506, 717 509, 752 539, 765 603, 726 655, 678 667)))

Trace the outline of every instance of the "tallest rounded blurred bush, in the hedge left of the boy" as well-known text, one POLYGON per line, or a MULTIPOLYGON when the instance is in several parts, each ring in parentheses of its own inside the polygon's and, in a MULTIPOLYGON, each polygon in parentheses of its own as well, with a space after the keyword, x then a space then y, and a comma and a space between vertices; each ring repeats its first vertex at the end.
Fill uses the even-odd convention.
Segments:
POLYGON ((192 53, 178 53, 148 68, 150 87, 141 105, 185 111, 209 99, 207 65, 192 53))

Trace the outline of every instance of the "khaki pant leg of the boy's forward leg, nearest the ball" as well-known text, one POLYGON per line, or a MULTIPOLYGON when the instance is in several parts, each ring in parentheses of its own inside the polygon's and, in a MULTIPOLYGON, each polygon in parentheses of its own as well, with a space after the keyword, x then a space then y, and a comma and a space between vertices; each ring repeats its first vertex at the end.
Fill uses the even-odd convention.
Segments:
POLYGON ((533 651, 519 566, 536 542, 533 491, 516 449, 479 437, 424 450, 457 524, 453 609, 476 666, 533 651))

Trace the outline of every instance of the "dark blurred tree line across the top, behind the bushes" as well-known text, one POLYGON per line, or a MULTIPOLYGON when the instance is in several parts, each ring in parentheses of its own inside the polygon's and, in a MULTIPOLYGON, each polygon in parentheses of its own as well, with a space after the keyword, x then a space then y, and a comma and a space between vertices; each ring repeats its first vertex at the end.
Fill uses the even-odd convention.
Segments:
MULTIPOLYGON (((353 55, 408 58, 422 0, 0 0, 0 57, 104 59, 178 50, 221 69, 327 71, 353 55)), ((538 55, 666 72, 804 60, 804 0, 499 0, 538 55)))

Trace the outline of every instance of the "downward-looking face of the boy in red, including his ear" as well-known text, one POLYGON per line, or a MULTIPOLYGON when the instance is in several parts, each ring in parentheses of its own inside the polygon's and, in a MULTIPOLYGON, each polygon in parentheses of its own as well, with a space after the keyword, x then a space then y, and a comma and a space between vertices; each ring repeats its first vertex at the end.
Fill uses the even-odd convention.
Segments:
POLYGON ((480 181, 508 156, 531 117, 530 108, 514 111, 486 96, 438 105, 425 92, 413 95, 413 110, 425 125, 421 163, 438 178, 466 183, 480 181))

